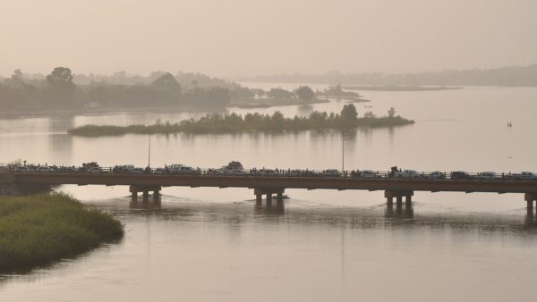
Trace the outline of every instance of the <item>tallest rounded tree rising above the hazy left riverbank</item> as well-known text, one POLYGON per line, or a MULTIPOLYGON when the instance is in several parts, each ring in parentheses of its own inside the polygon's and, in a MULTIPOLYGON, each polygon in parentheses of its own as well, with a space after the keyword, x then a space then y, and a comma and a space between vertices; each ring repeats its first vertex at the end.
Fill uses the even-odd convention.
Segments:
POLYGON ((72 83, 71 70, 66 67, 56 67, 47 75, 47 84, 50 88, 50 100, 53 105, 71 107, 74 100, 74 83, 72 83))

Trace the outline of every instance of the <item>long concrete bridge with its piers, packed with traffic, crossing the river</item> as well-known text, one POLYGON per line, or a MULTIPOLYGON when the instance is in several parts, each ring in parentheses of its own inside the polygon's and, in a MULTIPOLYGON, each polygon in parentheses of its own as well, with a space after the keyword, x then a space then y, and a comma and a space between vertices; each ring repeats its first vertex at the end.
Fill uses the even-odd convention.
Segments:
MULTIPOLYGON (((159 197, 163 187, 214 187, 214 188, 245 188, 253 189, 256 206, 261 206, 263 196, 266 196, 266 206, 272 206, 273 195, 276 195, 277 206, 283 206, 285 189, 362 189, 383 190, 387 198, 388 212, 393 210, 394 199, 396 209, 400 210, 405 198, 405 206, 412 207, 414 191, 428 192, 492 192, 524 194, 528 214, 533 214, 533 204, 537 202, 537 180, 516 180, 511 177, 499 177, 493 180, 476 179, 455 180, 447 177, 432 179, 423 174, 420 178, 394 178, 388 172, 378 173, 377 176, 356 177, 351 172, 338 172, 335 175, 325 175, 310 172, 307 176, 291 175, 282 171, 264 175, 257 172, 235 174, 218 174, 215 171, 194 171, 189 174, 157 174, 148 173, 115 173, 109 170, 101 172, 0 172, 0 193, 16 194, 17 191, 32 189, 50 189, 51 186, 73 185, 104 185, 129 186, 132 200, 136 202, 138 195, 143 194, 143 201, 149 201, 149 192, 154 199, 159 197)), ((510 174, 508 174, 510 175, 510 174)), ((537 205, 535 206, 537 208, 537 205)))

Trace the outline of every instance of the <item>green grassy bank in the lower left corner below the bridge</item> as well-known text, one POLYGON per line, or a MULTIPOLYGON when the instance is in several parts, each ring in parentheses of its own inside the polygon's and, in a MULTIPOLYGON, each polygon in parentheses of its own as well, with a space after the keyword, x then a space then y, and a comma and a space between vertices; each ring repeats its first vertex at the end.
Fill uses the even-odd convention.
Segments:
POLYGON ((0 271, 22 272, 121 239, 110 214, 65 194, 0 197, 0 271))

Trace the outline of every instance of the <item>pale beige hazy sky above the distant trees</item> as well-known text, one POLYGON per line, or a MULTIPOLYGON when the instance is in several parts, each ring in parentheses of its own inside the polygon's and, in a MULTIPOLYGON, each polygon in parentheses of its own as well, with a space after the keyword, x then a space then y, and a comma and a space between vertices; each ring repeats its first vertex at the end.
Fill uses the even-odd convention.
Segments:
POLYGON ((537 63, 537 0, 0 0, 0 74, 537 63))

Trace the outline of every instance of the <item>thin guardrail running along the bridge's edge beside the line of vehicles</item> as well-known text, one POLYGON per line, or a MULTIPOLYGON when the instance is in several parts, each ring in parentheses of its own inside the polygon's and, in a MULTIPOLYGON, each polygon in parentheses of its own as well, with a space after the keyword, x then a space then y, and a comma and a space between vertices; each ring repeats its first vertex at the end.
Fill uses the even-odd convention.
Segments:
MULTIPOLYGON (((194 169, 176 171, 166 168, 137 168, 131 171, 117 170, 115 167, 17 167, 11 172, 18 173, 39 173, 39 174, 115 174, 115 175, 180 175, 180 176, 205 176, 205 177, 286 177, 286 178, 327 178, 327 179, 371 179, 371 180, 516 180, 516 181, 537 181, 537 177, 523 177, 517 173, 466 173, 452 178, 453 172, 418 172, 415 174, 405 174, 402 172, 363 172, 359 170, 336 171, 336 170, 292 170, 292 169, 247 169, 243 172, 222 171, 215 169, 194 169)), ((454 174, 453 174, 454 175, 454 174)))

